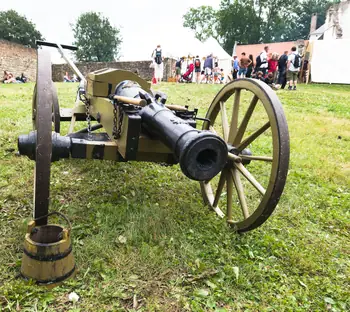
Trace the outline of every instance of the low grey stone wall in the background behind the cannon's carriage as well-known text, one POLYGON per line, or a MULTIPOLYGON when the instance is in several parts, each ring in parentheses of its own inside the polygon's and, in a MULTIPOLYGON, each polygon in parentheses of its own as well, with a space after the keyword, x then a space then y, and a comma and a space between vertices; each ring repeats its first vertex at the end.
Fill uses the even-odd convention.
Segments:
MULTIPOLYGON (((150 68, 151 61, 135 61, 135 62, 89 62, 89 63, 75 63, 84 76, 88 73, 102 68, 117 68, 123 70, 135 71, 141 78, 150 81, 153 77, 153 69, 150 68)), ((175 60, 165 59, 163 81, 167 81, 172 77, 175 60)), ((67 64, 53 64, 52 65, 52 80, 63 81, 63 76, 68 72, 69 76, 73 75, 73 71, 67 64)))

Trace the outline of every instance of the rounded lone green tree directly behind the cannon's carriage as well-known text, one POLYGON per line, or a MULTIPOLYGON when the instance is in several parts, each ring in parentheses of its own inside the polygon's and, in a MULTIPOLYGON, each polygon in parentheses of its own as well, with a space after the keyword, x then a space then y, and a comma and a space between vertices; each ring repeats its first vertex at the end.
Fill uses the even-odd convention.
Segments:
POLYGON ((81 62, 110 62, 118 59, 122 42, 120 30, 113 27, 101 13, 88 12, 79 16, 72 26, 76 52, 81 62))

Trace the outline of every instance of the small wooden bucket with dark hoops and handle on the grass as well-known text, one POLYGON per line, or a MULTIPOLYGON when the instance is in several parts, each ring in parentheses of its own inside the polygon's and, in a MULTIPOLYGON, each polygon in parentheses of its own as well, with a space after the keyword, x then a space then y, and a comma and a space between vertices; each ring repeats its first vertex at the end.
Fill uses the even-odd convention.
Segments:
POLYGON ((68 223, 68 229, 56 224, 36 226, 33 220, 28 224, 24 240, 21 274, 40 285, 56 286, 75 271, 70 222, 59 212, 49 213, 42 218, 53 214, 63 217, 68 223))

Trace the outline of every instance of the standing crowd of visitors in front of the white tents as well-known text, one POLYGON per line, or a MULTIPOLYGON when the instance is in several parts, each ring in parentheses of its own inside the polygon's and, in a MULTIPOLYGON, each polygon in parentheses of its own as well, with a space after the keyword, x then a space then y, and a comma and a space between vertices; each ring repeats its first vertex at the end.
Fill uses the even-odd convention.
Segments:
MULTIPOLYGON (((152 53, 152 64, 154 68, 153 83, 160 83, 163 78, 163 62, 161 46, 152 53)), ((219 66, 218 60, 209 54, 201 60, 199 55, 187 59, 186 71, 183 71, 185 58, 179 58, 175 63, 174 76, 176 82, 196 82, 196 83, 226 83, 240 78, 255 78, 265 82, 271 88, 284 89, 288 85, 288 90, 296 90, 298 75, 301 67, 301 57, 296 47, 291 51, 284 51, 282 55, 276 52, 269 52, 269 47, 255 58, 252 54, 246 55, 243 52, 238 58, 233 56, 231 73, 225 75, 224 69, 219 66)))

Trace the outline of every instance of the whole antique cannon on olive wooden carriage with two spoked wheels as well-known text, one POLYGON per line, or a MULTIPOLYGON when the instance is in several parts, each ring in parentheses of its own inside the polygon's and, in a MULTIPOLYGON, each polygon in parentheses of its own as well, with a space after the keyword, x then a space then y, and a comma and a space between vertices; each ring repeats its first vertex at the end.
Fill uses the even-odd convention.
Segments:
POLYGON ((204 203, 237 232, 257 228, 272 214, 287 178, 289 134, 269 86, 254 79, 225 84, 199 117, 198 109, 168 104, 166 94, 130 71, 106 68, 84 77, 66 56, 65 49, 75 47, 37 45, 33 131, 19 136, 18 150, 35 161, 38 225, 47 223, 51 163, 62 158, 178 163, 199 181, 204 203), (41 46, 56 47, 80 79, 70 109, 59 107, 50 53, 41 46), (75 131, 77 121, 86 127, 75 131), (62 122, 70 123, 66 135, 62 122))

